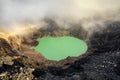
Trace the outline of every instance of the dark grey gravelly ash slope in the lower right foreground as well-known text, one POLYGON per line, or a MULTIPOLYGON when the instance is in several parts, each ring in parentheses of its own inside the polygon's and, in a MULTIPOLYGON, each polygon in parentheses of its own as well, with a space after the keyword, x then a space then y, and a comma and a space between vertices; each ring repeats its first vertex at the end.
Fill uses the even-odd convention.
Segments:
POLYGON ((38 80, 120 80, 120 52, 89 55, 67 69, 36 69, 33 74, 38 80))

